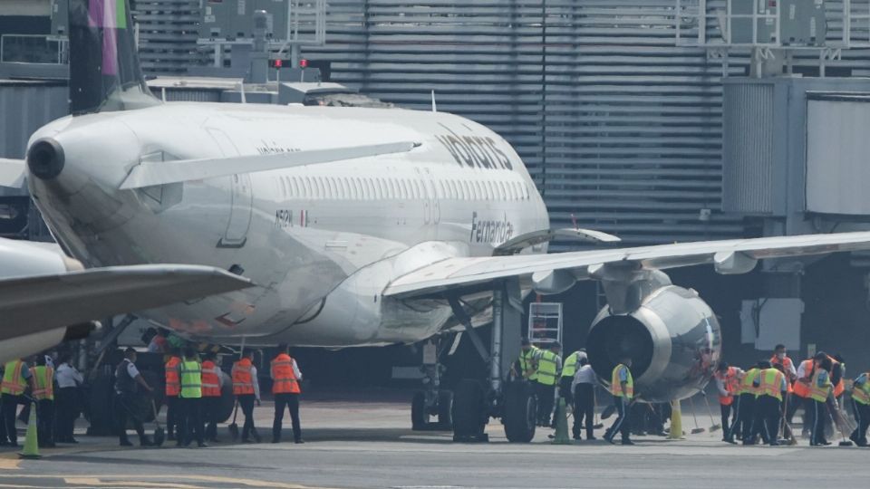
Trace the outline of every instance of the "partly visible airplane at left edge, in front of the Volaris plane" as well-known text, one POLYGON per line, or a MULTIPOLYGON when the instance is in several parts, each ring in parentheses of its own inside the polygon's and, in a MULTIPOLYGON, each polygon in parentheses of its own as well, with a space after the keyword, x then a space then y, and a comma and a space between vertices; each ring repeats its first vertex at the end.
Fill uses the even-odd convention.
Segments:
POLYGON ((0 238, 0 363, 85 338, 100 318, 251 285, 233 273, 190 264, 85 270, 57 245, 0 238))

